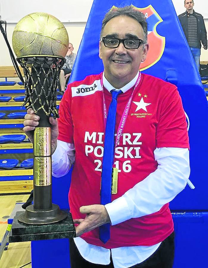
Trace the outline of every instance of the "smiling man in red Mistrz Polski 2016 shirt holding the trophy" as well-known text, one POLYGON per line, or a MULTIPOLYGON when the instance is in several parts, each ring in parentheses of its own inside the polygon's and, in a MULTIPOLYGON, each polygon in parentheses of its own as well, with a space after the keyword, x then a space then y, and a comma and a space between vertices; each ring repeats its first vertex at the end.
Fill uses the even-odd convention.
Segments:
MULTIPOLYGON (((63 176, 73 166, 69 204, 76 226, 71 267, 169 268, 174 233, 169 202, 190 174, 187 124, 176 86, 139 66, 148 52, 147 23, 132 6, 104 17, 99 57, 104 72, 68 85, 60 119, 52 125, 52 169, 63 176), (100 205, 106 119, 119 91, 113 168, 118 183, 111 202, 100 205), (90 116, 83 116, 86 110, 90 116), (99 228, 110 223, 110 238, 99 228)), ((24 131, 32 141, 39 117, 29 109, 24 131)), ((107 152, 110 154, 110 152, 107 152)))

